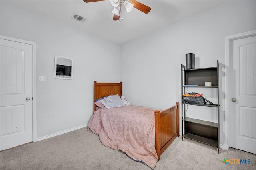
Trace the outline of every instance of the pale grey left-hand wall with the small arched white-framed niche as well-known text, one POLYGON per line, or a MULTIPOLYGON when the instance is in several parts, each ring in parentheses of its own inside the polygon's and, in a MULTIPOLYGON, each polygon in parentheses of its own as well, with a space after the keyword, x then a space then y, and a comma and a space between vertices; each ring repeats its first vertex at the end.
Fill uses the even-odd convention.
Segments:
POLYGON ((86 125, 93 81, 120 81, 120 45, 70 25, 1 1, 1 35, 36 42, 38 138, 86 125), (56 56, 74 60, 72 80, 54 79, 56 56))

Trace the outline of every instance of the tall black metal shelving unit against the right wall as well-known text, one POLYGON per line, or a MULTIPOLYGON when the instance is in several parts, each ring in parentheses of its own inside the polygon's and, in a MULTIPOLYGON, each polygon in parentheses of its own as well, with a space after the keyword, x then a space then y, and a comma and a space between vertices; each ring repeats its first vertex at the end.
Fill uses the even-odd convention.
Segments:
POLYGON ((193 119, 186 117, 186 107, 190 104, 185 104, 182 101, 182 141, 184 138, 192 139, 207 145, 218 148, 220 145, 220 109, 219 109, 219 62, 217 67, 197 68, 186 70, 186 67, 181 64, 181 101, 182 95, 185 94, 186 88, 216 88, 218 96, 218 104, 210 105, 196 105, 197 107, 216 107, 216 114, 218 114, 218 122, 204 121, 200 119, 193 119), (212 82, 212 86, 205 87, 204 82, 212 82), (198 85, 196 87, 184 87, 184 85, 198 85))

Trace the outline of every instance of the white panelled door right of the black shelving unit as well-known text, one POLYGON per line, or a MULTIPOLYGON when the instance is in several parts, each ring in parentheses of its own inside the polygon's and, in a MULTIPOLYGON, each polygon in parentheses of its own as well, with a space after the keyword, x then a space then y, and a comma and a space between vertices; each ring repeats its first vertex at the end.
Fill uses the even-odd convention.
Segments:
POLYGON ((230 43, 229 146, 256 154, 256 37, 230 43))

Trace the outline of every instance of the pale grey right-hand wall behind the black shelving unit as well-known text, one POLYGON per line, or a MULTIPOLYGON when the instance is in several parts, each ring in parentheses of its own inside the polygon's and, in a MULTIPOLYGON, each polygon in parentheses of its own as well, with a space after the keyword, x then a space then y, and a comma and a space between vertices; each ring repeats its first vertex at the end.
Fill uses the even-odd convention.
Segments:
MULTIPOLYGON (((255 1, 231 1, 121 45, 122 94, 131 104, 166 109, 181 102, 181 64, 185 54, 199 57, 196 68, 220 64, 220 143, 224 144, 225 36, 256 29, 255 1), (131 50, 132 49, 132 50, 131 50)), ((216 91, 202 92, 215 102, 216 91), (214 94, 213 98, 210 96, 214 94)), ((217 121, 215 108, 190 106, 195 117, 217 121), (197 109, 197 110, 196 110, 197 109), (215 114, 214 114, 215 113, 215 114)), ((191 113, 191 112, 190 112, 191 113)))

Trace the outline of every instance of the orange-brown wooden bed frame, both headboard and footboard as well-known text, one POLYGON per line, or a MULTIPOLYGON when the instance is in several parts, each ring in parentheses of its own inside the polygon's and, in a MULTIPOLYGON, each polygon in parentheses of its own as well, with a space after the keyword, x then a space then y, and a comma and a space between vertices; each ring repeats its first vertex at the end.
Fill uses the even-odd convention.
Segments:
MULTIPOLYGON (((94 102, 98 98, 118 94, 122 96, 122 82, 97 83, 94 81, 94 102)), ((94 111, 96 111, 94 104, 94 111)), ((156 153, 158 160, 164 150, 174 141, 179 133, 179 102, 163 111, 155 111, 156 153)))

